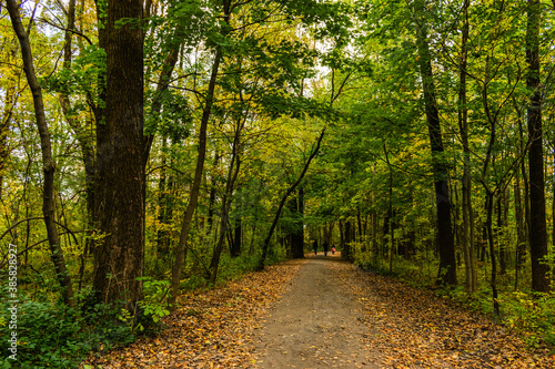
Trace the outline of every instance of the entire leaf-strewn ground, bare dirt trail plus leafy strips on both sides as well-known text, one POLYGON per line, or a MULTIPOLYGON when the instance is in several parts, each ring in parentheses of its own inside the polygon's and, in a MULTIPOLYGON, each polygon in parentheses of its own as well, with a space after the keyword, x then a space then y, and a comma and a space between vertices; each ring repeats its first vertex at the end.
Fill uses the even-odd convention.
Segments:
POLYGON ((159 335, 82 367, 555 368, 555 355, 487 317, 337 254, 185 294, 159 335))

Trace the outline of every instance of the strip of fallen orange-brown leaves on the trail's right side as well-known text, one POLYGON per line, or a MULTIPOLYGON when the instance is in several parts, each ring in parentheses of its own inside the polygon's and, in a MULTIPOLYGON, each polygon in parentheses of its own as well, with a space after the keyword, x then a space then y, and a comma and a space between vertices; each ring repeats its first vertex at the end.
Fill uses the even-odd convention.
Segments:
POLYGON ((430 290, 349 266, 343 283, 364 304, 371 345, 389 368, 555 368, 502 325, 430 290))

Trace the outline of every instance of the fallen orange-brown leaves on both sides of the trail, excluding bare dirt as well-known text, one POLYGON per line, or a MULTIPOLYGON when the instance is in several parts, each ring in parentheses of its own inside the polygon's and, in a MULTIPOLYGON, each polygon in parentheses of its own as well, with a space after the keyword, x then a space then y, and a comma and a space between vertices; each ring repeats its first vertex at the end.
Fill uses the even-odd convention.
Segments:
MULTIPOLYGON (((285 262, 222 287, 186 293, 159 335, 91 353, 81 367, 255 368, 256 331, 304 263, 285 262)), ((529 348, 488 317, 432 291, 347 263, 332 268, 340 275, 337 288, 349 287, 361 304, 364 340, 381 368, 555 368, 547 348, 529 348)))

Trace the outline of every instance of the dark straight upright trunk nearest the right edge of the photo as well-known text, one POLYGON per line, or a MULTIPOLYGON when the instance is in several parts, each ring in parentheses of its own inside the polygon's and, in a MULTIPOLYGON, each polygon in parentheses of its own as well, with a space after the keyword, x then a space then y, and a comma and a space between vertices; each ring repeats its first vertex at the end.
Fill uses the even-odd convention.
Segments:
POLYGON ((539 79, 539 0, 528 0, 526 23, 527 88, 533 91, 527 110, 529 166, 529 249, 532 258, 532 289, 549 290, 547 257, 547 226, 545 215, 544 153, 542 137, 542 92, 539 79))

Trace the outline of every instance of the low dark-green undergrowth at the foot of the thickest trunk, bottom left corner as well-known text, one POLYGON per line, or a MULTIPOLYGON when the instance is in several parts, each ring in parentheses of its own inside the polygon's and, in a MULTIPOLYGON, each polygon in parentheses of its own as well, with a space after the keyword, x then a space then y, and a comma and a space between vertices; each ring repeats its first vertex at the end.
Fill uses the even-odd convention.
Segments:
MULTIPOLYGON (((9 320, 4 301, 0 321, 9 320)), ((134 340, 130 329, 119 322, 110 307, 97 305, 83 316, 77 309, 59 303, 20 298, 18 304, 17 365, 21 368, 73 368, 93 350, 105 350, 134 340)), ((0 325, 0 339, 8 341, 9 325, 0 325)), ((2 357, 10 355, 2 345, 2 357)), ((4 367, 13 361, 3 360, 4 367)), ((9 367, 9 366, 8 366, 9 367)))

